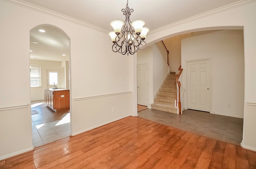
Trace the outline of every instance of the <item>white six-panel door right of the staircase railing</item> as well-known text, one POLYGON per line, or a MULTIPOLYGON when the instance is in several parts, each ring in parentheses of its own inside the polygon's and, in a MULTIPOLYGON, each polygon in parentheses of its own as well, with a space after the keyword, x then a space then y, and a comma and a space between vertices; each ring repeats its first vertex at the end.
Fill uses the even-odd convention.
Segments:
POLYGON ((186 64, 188 109, 210 112, 210 60, 186 64))

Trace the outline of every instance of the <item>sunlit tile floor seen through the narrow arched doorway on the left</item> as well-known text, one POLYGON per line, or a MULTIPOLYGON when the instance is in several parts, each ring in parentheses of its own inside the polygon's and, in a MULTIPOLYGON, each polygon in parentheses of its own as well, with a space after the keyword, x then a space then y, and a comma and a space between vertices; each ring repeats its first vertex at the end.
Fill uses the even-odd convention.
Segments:
POLYGON ((34 147, 44 145, 70 135, 70 112, 54 112, 44 100, 32 101, 31 110, 37 110, 38 114, 32 114, 32 138, 34 147))

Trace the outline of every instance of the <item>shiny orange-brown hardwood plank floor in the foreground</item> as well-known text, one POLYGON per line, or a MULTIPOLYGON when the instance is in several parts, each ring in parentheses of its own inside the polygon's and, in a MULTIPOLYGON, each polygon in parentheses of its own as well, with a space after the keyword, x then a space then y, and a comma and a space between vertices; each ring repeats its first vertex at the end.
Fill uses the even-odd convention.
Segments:
POLYGON ((127 117, 0 161, 1 169, 255 169, 256 152, 127 117))

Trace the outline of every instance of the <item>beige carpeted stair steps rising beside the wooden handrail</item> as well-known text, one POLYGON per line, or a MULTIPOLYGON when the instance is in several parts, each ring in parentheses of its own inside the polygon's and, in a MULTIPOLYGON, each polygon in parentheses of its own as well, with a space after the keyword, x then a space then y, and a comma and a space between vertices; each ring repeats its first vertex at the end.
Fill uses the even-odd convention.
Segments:
POLYGON ((164 81, 162 89, 159 90, 160 94, 157 94, 154 104, 151 104, 152 109, 177 114, 177 108, 174 107, 177 92, 175 74, 171 72, 164 81))

